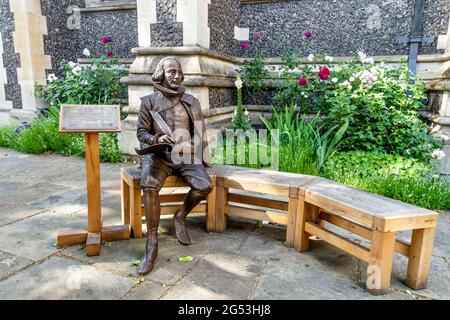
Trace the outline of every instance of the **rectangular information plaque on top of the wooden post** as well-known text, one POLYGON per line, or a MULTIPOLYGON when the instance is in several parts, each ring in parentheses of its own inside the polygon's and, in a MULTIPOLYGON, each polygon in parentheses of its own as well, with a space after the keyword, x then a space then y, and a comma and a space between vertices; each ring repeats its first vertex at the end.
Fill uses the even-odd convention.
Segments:
POLYGON ((61 105, 60 132, 119 132, 118 105, 61 105))

